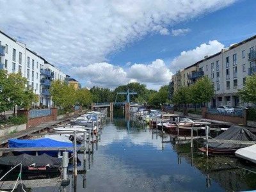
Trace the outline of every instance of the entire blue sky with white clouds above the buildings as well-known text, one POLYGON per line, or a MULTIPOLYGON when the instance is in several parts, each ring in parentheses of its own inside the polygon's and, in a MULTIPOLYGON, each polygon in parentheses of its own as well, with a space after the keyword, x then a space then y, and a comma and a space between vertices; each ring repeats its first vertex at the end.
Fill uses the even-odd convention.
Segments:
POLYGON ((157 89, 175 71, 255 35, 253 0, 0 0, 0 30, 83 86, 138 81, 157 89))

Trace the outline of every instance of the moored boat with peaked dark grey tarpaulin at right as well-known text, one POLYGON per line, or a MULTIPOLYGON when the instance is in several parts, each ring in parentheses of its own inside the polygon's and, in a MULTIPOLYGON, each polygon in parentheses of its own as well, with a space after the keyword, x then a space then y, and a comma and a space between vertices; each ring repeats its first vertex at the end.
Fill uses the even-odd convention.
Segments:
MULTIPOLYGON (((232 125, 227 131, 222 132, 213 140, 256 141, 256 136, 244 127, 232 125)), ((234 154, 237 149, 248 146, 250 145, 238 143, 220 143, 216 141, 216 143, 208 144, 208 152, 212 154, 234 154)), ((199 150, 206 152, 205 147, 199 148, 199 150)))

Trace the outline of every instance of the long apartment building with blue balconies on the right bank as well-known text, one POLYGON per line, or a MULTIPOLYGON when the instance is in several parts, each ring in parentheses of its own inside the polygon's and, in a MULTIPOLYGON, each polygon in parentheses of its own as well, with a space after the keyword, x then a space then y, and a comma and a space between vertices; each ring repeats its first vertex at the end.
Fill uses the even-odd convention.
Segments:
MULTIPOLYGON (((220 105, 248 106, 239 98, 238 90, 243 88, 246 76, 256 72, 256 35, 231 45, 226 49, 212 56, 205 56, 204 60, 182 70, 183 74, 188 73, 188 83, 194 83, 202 76, 208 76, 214 84, 215 95, 211 100, 211 106, 220 105), (189 68, 196 67, 196 70, 189 73, 189 68)), ((194 68, 195 69, 195 68, 194 68)), ((175 78, 179 73, 172 77, 175 78)), ((178 78, 177 78, 178 79, 178 78)), ((180 84, 177 84, 177 88, 180 84)))

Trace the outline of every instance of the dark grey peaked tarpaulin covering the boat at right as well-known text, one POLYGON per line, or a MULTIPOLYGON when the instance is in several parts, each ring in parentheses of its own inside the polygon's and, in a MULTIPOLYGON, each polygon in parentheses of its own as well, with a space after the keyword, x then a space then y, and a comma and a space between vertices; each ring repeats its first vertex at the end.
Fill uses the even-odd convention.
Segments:
MULTIPOLYGON (((236 141, 256 141, 256 136, 244 127, 232 125, 227 131, 214 138, 215 140, 236 140, 236 141)), ((250 145, 241 145, 236 143, 209 143, 209 148, 216 150, 221 149, 237 149, 248 147, 250 145)))

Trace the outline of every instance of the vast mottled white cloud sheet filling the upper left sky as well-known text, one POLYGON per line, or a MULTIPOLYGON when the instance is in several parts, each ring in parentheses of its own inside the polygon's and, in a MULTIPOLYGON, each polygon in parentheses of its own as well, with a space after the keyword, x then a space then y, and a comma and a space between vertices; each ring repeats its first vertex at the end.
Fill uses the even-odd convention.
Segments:
POLYGON ((168 35, 166 26, 234 1, 1 0, 0 28, 58 67, 84 67, 106 61, 111 52, 156 33, 154 28, 168 35))

